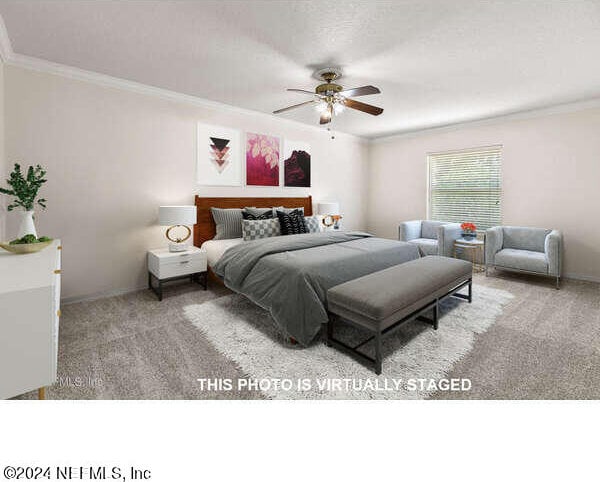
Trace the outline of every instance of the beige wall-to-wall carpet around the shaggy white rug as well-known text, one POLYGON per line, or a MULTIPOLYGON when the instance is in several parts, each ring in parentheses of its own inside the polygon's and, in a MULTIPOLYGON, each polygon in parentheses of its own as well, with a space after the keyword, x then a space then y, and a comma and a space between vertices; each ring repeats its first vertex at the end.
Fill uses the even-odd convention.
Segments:
MULTIPOLYGON (((600 284, 567 281, 556 291, 543 278, 500 273, 477 275, 478 284, 513 298, 447 372, 470 378, 472 389, 433 398, 600 398, 600 284)), ((48 398, 264 398, 260 391, 203 391, 197 381, 247 378, 185 313, 229 294, 182 284, 167 287, 162 302, 140 291, 64 306, 60 379, 48 398)))

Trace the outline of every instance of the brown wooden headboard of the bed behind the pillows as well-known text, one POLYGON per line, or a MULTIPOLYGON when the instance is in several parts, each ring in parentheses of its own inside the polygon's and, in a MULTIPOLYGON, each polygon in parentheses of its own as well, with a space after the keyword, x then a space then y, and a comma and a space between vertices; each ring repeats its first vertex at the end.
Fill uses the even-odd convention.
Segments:
POLYGON ((215 237, 215 221, 210 208, 304 208, 306 216, 312 216, 312 196, 308 197, 200 197, 196 196, 198 224, 194 226, 194 245, 200 247, 204 241, 215 237))

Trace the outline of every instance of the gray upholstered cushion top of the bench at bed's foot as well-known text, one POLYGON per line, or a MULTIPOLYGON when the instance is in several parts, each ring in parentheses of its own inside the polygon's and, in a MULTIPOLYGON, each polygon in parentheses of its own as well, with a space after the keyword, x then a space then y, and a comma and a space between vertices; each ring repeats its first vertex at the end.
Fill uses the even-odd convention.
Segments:
POLYGON ((327 305, 345 319, 383 330, 471 276, 467 261, 427 256, 334 286, 327 305))

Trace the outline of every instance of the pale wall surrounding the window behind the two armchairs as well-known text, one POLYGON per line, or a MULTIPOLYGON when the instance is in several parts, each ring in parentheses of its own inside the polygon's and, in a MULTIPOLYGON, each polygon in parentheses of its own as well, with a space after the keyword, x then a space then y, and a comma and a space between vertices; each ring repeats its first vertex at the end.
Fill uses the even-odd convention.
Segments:
POLYGON ((396 238, 427 215, 427 153, 502 144, 503 223, 561 229, 565 272, 600 281, 600 108, 380 139, 369 150, 369 223, 396 238))

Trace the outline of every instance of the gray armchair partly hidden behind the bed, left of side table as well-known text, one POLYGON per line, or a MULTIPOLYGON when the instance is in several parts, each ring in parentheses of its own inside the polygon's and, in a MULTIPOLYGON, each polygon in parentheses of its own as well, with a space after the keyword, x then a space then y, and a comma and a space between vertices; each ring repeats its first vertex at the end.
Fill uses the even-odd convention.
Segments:
POLYGON ((416 244, 422 256, 452 257, 454 241, 461 236, 460 224, 443 221, 405 221, 398 228, 400 241, 416 244))

